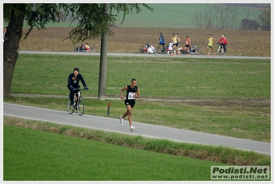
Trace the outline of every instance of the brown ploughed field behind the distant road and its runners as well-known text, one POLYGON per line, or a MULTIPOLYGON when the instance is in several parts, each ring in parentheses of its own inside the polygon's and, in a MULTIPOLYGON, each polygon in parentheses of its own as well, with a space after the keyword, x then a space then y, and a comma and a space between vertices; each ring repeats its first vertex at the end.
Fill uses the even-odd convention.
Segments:
MULTIPOLYGON (((21 50, 32 51, 74 51, 71 40, 64 40, 69 36, 71 27, 47 28, 45 30, 34 29, 26 40, 19 44, 21 50)), ((24 34, 27 29, 23 29, 24 34)), ((160 32, 163 32, 166 42, 173 33, 179 34, 181 46, 184 38, 188 35, 192 45, 201 47, 202 53, 206 54, 208 34, 214 38, 214 51, 217 42, 224 34, 227 38, 227 55, 244 56, 271 56, 271 31, 231 31, 231 30, 208 30, 208 29, 169 29, 169 28, 120 28, 112 27, 114 36, 108 38, 108 52, 139 53, 139 49, 147 42, 158 45, 160 32)), ((25 35, 23 35, 25 36, 25 35)), ((84 40, 85 41, 85 40, 84 40)), ((96 52, 100 52, 101 38, 87 40, 96 45, 96 52)))

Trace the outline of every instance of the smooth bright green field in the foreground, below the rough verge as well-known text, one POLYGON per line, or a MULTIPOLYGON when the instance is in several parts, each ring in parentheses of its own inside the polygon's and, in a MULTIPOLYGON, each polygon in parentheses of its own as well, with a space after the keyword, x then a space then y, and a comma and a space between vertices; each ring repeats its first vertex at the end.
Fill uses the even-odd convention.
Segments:
POLYGON ((205 181, 210 166, 225 165, 22 127, 4 129, 4 181, 205 181))

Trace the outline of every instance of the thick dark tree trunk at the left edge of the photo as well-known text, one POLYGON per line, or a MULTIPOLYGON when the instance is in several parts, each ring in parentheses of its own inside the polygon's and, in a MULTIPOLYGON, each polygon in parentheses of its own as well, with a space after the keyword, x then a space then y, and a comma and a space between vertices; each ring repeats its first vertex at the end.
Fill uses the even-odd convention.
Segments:
MULTIPOLYGON (((20 10, 25 12, 25 4, 18 4, 20 10)), ((10 97, 12 75, 18 59, 19 42, 23 36, 24 15, 16 16, 12 10, 11 21, 8 25, 3 44, 3 96, 10 97)))

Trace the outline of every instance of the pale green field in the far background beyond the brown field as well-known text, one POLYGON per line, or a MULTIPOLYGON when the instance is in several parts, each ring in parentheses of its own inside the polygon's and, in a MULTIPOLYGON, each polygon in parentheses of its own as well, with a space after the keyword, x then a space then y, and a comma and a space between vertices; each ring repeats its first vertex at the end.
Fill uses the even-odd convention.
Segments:
MULTIPOLYGON (((215 9, 210 10, 212 3, 147 3, 153 12, 147 10, 147 8, 140 6, 141 12, 136 14, 133 11, 132 14, 128 14, 125 17, 125 21, 122 25, 123 14, 117 14, 113 11, 112 14, 117 14, 115 25, 119 27, 164 27, 164 28, 179 28, 179 29, 197 29, 197 23, 195 21, 195 15, 201 12, 205 13, 205 10, 210 11, 210 14, 215 13, 215 9)), ((225 8, 227 5, 223 5, 225 8)), ((236 18, 237 26, 240 26, 240 21, 245 18, 259 21, 258 15, 262 14, 262 10, 247 7, 229 7, 228 11, 233 14, 237 14, 236 18)), ((203 18, 203 17, 202 17, 203 18)), ((25 24, 26 25, 26 24, 25 24)), ((6 24, 4 23, 4 27, 6 24)), ((76 27, 77 23, 64 22, 64 23, 49 23, 47 27, 76 27)))

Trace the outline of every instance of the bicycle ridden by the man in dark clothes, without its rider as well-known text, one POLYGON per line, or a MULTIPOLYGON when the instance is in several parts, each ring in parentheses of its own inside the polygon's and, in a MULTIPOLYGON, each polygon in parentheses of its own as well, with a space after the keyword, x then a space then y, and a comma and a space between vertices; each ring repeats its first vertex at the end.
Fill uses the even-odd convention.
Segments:
POLYGON ((69 92, 69 98, 66 103, 66 108, 68 109, 69 114, 73 114, 74 109, 77 109, 79 116, 82 116, 85 109, 85 103, 84 103, 84 98, 81 96, 81 90, 84 90, 84 89, 75 89, 75 90, 78 90, 78 93, 74 94, 73 105, 71 105, 71 98, 70 98, 71 92, 69 92))

